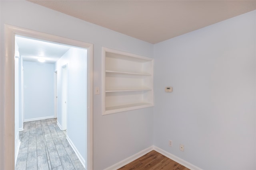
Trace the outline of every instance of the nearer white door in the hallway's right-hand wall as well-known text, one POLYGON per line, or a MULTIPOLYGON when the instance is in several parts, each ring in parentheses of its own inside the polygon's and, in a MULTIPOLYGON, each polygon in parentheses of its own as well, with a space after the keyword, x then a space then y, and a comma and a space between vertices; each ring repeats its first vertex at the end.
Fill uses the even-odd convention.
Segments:
POLYGON ((62 125, 61 130, 64 131, 67 129, 67 65, 62 67, 62 99, 61 99, 61 105, 62 105, 62 125))

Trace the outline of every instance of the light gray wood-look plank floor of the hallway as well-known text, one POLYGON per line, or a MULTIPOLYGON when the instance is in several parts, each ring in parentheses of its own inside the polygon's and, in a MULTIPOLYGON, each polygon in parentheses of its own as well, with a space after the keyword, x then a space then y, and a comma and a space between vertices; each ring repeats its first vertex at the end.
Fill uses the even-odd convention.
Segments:
POLYGON ((16 170, 84 170, 57 119, 24 123, 16 170))

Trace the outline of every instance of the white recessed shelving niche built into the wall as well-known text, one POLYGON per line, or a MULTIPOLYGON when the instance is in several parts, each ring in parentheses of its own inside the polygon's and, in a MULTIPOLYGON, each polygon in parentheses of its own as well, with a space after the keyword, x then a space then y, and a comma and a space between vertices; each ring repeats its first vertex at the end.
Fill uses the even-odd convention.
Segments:
POLYGON ((102 48, 103 115, 153 106, 153 59, 102 48))

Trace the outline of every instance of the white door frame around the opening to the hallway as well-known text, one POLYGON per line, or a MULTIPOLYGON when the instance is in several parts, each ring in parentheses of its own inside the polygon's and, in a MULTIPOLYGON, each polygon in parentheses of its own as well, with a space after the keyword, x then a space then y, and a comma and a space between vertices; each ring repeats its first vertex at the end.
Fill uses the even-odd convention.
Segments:
POLYGON ((93 169, 93 45, 73 39, 50 35, 30 29, 4 24, 4 54, 1 55, 0 82, 0 163, 1 169, 15 168, 14 137, 14 51, 15 35, 23 35, 87 49, 87 162, 86 169, 93 169))

